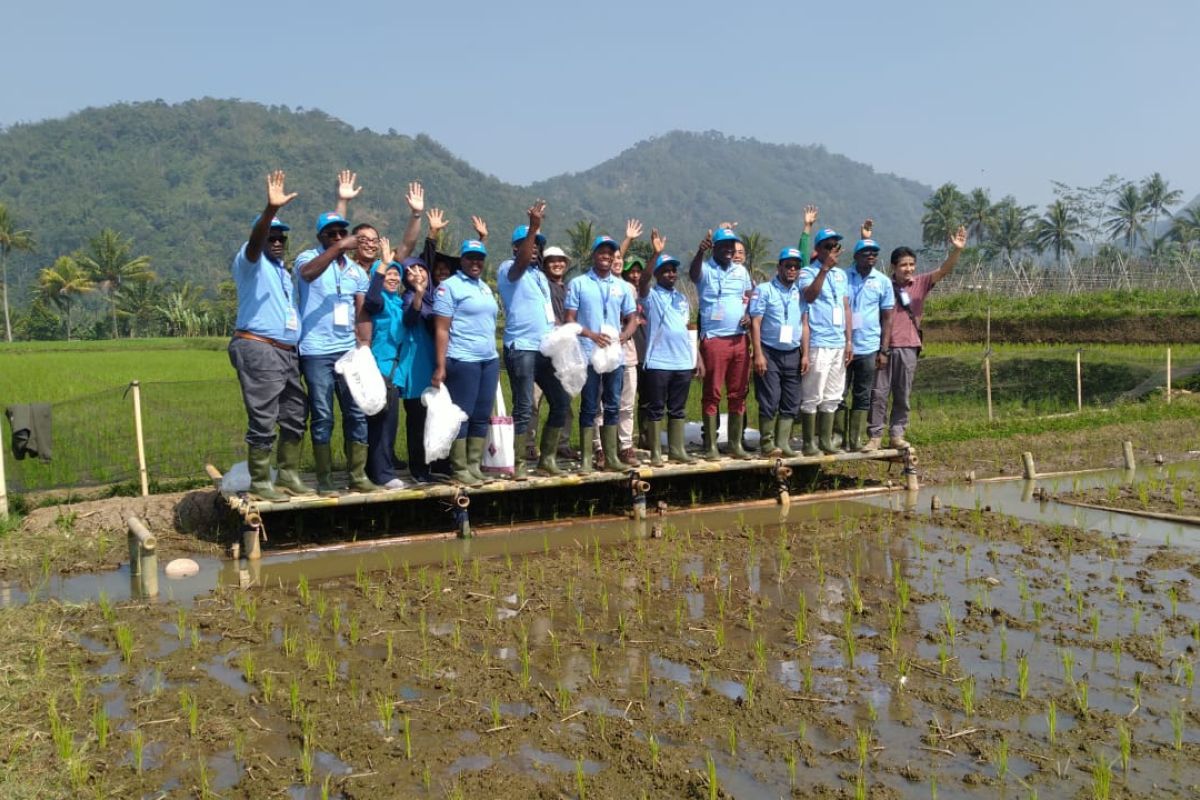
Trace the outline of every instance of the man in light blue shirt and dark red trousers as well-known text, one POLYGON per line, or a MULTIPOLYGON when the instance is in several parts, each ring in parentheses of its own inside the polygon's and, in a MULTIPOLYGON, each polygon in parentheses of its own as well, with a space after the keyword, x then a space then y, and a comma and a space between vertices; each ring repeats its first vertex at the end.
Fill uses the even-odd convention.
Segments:
POLYGON ((702 411, 704 415, 704 457, 718 461, 718 421, 721 390, 727 389, 730 455, 749 458, 742 446, 746 393, 750 389, 750 349, 746 331, 750 318, 746 303, 754 283, 743 264, 733 260, 742 237, 732 228, 712 230, 700 242, 688 275, 700 294, 700 357, 704 361, 702 411), (712 251, 713 257, 706 258, 712 251))

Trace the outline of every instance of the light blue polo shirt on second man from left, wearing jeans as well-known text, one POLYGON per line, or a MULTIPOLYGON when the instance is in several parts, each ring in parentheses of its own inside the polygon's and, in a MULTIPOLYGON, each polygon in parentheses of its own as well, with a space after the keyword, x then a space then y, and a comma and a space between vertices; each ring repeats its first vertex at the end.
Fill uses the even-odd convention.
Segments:
MULTIPOLYGON (((317 258, 324 247, 296 255, 295 273, 317 258)), ((298 278, 300 284, 300 355, 335 355, 353 350, 354 295, 365 295, 371 284, 367 273, 346 255, 325 267, 316 281, 298 278), (342 311, 337 307, 343 306, 342 311), (342 320, 348 320, 342 324, 342 320)))

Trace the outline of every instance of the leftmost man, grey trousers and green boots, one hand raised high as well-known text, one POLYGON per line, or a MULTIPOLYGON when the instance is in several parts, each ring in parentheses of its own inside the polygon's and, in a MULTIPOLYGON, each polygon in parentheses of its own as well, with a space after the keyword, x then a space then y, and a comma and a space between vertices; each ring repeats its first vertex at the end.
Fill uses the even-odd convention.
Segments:
POLYGON ((254 219, 250 240, 238 251, 230 267, 238 285, 238 321, 229 341, 229 362, 238 372, 246 405, 250 491, 263 500, 312 494, 299 474, 305 395, 296 357, 300 317, 293 299, 292 273, 283 263, 289 228, 275 216, 296 197, 294 192, 287 193, 284 178, 283 170, 266 176, 266 207, 254 219), (278 474, 272 486, 271 446, 276 425, 278 474))

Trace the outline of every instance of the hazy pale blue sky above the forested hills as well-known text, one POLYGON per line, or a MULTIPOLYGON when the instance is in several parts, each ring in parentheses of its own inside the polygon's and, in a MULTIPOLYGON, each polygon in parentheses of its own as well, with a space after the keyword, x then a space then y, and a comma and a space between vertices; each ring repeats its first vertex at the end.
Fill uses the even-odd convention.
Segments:
POLYGON ((427 133, 517 184, 713 130, 1039 206, 1051 179, 1111 173, 1200 194, 1196 0, 40 0, 13 20, 5 126, 236 97, 427 133))

